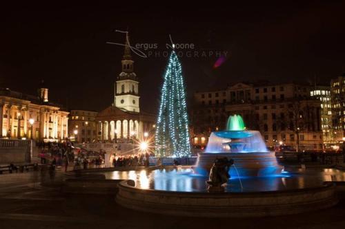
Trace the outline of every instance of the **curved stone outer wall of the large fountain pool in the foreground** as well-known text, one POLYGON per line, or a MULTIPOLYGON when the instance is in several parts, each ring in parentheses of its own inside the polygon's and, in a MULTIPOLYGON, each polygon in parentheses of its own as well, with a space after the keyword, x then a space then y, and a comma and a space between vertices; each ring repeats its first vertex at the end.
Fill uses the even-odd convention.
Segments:
POLYGON ((190 217, 265 217, 329 208, 335 186, 255 193, 188 193, 141 189, 119 183, 116 201, 133 210, 190 217))

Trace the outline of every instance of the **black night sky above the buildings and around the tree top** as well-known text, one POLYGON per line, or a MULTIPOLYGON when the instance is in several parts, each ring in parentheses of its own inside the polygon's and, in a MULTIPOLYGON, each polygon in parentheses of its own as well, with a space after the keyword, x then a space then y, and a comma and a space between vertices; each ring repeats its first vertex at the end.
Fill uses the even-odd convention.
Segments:
MULTIPOLYGON (((236 2, 1 6, 1 87, 35 94, 44 79, 51 100, 68 101, 69 109, 104 109, 113 100, 123 55, 123 47, 106 42, 124 43, 124 34, 114 30, 127 28, 131 45, 157 43, 160 52, 169 34, 175 43, 193 43, 193 51, 228 52, 216 69, 215 56, 181 57, 188 96, 238 81, 315 78, 328 84, 345 71, 344 1, 236 2)), ((155 111, 168 58, 133 58, 141 108, 155 111)))

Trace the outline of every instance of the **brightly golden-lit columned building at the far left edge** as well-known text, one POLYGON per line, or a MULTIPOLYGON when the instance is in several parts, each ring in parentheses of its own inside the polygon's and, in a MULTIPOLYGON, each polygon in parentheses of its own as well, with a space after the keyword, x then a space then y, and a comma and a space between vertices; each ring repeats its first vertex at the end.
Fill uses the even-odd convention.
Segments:
POLYGON ((68 111, 48 101, 48 89, 31 96, 0 89, 1 138, 57 142, 68 138, 68 111))

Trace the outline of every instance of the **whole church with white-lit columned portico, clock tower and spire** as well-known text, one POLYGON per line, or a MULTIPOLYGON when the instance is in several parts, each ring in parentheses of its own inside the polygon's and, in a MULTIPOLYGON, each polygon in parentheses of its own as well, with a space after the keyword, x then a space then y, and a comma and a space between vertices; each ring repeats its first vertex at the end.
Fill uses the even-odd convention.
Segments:
POLYGON ((121 67, 114 87, 114 103, 96 117, 99 140, 141 139, 145 132, 153 134, 155 128, 155 116, 140 109, 139 78, 134 72, 128 34, 121 67))

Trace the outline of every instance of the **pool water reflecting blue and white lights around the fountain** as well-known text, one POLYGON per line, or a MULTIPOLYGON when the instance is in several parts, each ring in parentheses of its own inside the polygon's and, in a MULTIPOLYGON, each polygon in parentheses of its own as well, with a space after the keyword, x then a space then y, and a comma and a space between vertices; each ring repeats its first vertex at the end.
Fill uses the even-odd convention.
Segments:
MULTIPOLYGON (((106 179, 133 179, 135 186, 142 189, 207 192, 206 180, 208 177, 195 174, 191 168, 113 171, 104 174, 106 179)), ((322 186, 322 183, 326 181, 345 181, 345 173, 335 168, 310 168, 298 174, 282 173, 282 175, 268 177, 237 176, 228 180, 225 191, 241 193, 313 188, 322 186)))

